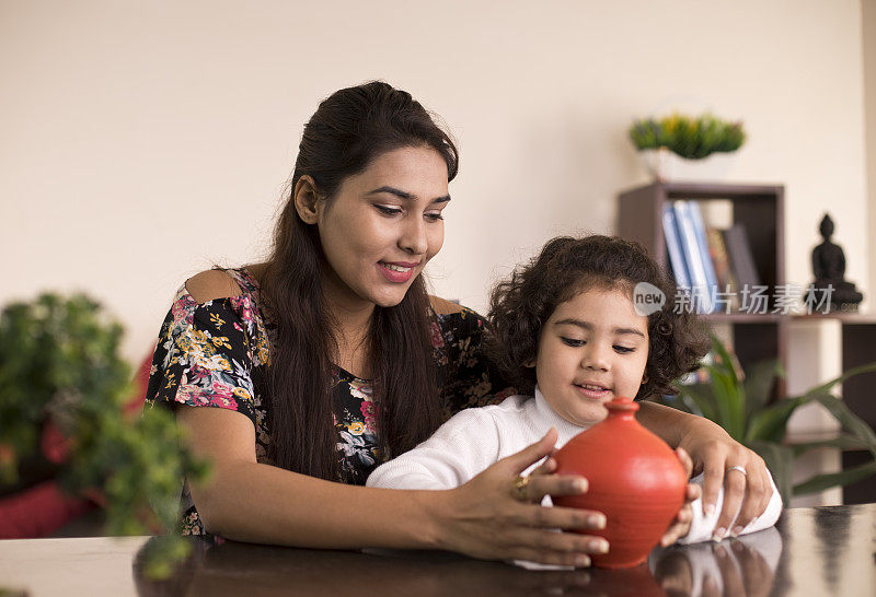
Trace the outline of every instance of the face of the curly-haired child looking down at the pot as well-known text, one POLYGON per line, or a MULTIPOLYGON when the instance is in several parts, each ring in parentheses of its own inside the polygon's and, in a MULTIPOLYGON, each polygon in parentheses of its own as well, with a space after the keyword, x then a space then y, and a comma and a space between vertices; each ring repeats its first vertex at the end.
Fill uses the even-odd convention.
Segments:
POLYGON ((577 425, 601 421, 615 396, 634 398, 648 361, 648 319, 621 289, 561 303, 542 328, 535 377, 544 399, 577 425))

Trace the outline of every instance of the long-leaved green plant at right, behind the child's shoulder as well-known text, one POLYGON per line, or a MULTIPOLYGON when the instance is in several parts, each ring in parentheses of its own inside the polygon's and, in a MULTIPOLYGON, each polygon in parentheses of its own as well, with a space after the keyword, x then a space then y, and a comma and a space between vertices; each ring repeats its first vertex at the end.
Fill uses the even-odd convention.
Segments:
POLYGON ((777 361, 758 363, 742 378, 729 351, 714 336, 712 349, 715 362, 703 365, 710 381, 682 385, 678 396, 664 397, 661 401, 714 421, 734 440, 757 452, 766 461, 785 503, 788 503, 792 494, 814 493, 876 475, 876 434, 842 400, 830 394, 837 384, 854 375, 876 371, 876 363, 851 368, 799 396, 771 403, 773 384, 776 377, 784 375, 777 361), (830 440, 789 444, 786 438, 787 422, 795 410, 810 402, 823 406, 840 422, 842 430, 830 440), (807 450, 823 447, 867 449, 874 460, 840 472, 816 475, 792 487, 795 458, 807 450))

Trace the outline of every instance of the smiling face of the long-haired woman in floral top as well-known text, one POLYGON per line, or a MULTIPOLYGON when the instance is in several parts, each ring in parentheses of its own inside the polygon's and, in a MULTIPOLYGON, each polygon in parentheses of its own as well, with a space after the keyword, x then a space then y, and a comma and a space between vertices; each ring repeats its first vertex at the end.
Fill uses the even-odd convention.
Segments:
POLYGON ((431 148, 401 148, 346 178, 318 203, 316 225, 336 306, 397 305, 441 248, 447 164, 431 148))

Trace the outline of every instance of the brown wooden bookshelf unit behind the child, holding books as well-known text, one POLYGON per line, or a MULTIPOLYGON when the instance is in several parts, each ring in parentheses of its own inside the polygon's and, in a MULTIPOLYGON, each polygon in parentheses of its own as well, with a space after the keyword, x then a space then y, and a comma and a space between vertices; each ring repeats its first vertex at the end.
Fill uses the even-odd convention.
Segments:
MULTIPOLYGON (((775 288, 785 284, 784 187, 781 185, 724 185, 711 183, 654 183, 622 191, 618 197, 618 235, 641 243, 667 269, 662 210, 668 201, 729 201, 733 223, 745 224, 751 253, 761 278, 769 286, 768 313, 715 313, 703 315, 710 325, 728 326, 734 350, 745 368, 758 361, 777 359, 787 365, 789 325, 793 321, 835 320, 842 328, 842 371, 876 361, 876 315, 831 312, 818 315, 769 313, 775 288)), ((842 386, 845 405, 876 429, 876 373, 858 375, 842 386)), ((774 388, 784 397, 785 385, 774 388)), ((866 450, 844 450, 843 468, 866 463, 866 450)), ((876 478, 843 488, 843 502, 876 502, 876 478)))

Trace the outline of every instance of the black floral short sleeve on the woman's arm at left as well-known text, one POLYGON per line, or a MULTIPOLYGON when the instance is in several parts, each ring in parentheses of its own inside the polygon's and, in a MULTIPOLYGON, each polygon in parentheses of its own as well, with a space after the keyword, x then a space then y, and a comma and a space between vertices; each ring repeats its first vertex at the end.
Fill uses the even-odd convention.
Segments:
POLYGON ((253 374, 269 360, 258 328, 249 295, 197 303, 180 289, 161 326, 147 403, 234 410, 257 426, 253 374))

